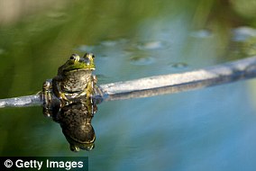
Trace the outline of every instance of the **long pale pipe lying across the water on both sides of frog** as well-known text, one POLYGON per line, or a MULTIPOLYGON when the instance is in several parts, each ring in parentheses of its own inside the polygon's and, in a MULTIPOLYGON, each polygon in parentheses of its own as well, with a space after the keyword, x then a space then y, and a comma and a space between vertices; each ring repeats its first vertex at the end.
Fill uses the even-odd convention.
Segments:
MULTIPOLYGON (((214 67, 206 67, 178 74, 150 76, 131 81, 100 85, 103 94, 99 101, 114 101, 173 94, 213 85, 223 85, 256 76, 256 57, 243 58, 214 67)), ((0 99, 0 108, 41 105, 40 94, 0 99)))

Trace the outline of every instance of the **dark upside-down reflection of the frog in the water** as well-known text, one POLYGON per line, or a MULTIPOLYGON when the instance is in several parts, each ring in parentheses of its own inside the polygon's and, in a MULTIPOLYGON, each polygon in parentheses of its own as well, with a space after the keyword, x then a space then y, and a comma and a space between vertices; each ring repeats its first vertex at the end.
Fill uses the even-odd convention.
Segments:
POLYGON ((87 99, 66 105, 53 116, 69 141, 70 150, 77 152, 81 148, 89 151, 95 147, 96 135, 91 120, 96 110, 96 105, 87 99))

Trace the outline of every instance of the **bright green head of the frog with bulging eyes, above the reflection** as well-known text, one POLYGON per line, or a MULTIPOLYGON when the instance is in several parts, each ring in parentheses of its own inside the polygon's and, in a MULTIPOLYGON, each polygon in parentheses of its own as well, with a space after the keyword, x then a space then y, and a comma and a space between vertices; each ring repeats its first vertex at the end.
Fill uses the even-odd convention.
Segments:
POLYGON ((59 67, 58 74, 65 74, 67 72, 75 70, 95 70, 94 54, 86 53, 83 58, 80 58, 78 54, 72 54, 69 60, 59 67))

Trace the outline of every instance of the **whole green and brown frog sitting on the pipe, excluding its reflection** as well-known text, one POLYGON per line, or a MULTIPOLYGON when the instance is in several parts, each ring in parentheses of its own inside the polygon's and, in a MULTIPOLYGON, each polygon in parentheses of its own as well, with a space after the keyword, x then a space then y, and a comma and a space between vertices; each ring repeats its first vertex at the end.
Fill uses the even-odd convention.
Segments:
POLYGON ((68 61, 59 67, 58 75, 43 84, 41 97, 43 113, 46 116, 52 116, 51 106, 54 97, 59 100, 61 108, 76 99, 88 98, 98 92, 96 76, 92 75, 96 68, 94 58, 92 53, 86 53, 83 58, 72 54, 68 61))

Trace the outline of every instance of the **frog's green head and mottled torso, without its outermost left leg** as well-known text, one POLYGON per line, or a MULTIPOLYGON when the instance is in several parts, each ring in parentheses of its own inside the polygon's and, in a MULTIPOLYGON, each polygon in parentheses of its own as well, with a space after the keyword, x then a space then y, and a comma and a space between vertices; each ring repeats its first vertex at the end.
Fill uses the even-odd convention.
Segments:
POLYGON ((95 70, 95 56, 87 53, 84 58, 73 54, 69 60, 58 69, 58 76, 52 79, 52 90, 62 101, 68 101, 70 97, 81 95, 91 96, 96 76, 92 75, 95 70))

